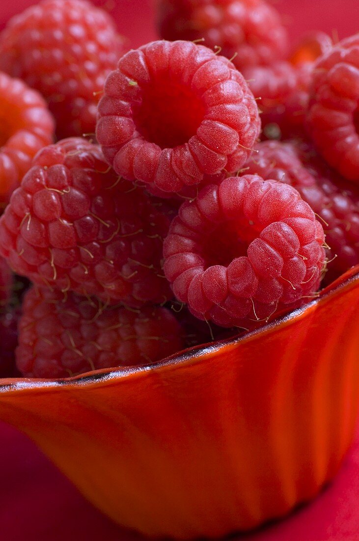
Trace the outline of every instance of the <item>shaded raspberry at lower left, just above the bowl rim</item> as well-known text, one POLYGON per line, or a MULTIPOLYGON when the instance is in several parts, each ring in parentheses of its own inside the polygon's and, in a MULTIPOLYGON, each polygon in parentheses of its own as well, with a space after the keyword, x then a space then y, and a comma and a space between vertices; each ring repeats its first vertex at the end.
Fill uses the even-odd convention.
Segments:
POLYGON ((103 308, 96 299, 32 288, 19 321, 18 369, 25 377, 64 378, 100 368, 143 365, 182 347, 168 308, 103 308))

